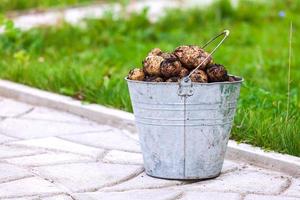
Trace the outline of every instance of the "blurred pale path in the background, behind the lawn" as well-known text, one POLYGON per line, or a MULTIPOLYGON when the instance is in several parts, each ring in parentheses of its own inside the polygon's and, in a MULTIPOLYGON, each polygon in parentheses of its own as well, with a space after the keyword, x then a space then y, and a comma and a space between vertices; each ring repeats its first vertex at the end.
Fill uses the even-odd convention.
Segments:
MULTIPOLYGON (((237 4, 238 0, 232 0, 233 5, 237 4)), ((167 8, 183 8, 193 6, 207 6, 213 0, 140 0, 131 1, 125 8, 126 12, 141 12, 145 7, 148 8, 148 17, 155 22, 165 14, 167 8)), ((120 13, 123 11, 120 3, 101 3, 82 7, 70 7, 65 9, 51 10, 46 12, 33 12, 20 16, 13 17, 13 21, 17 28, 28 30, 37 26, 55 26, 65 21, 74 25, 82 25, 80 22, 86 18, 101 18, 107 12, 120 13)), ((0 27, 0 33, 3 32, 3 27, 0 27)))

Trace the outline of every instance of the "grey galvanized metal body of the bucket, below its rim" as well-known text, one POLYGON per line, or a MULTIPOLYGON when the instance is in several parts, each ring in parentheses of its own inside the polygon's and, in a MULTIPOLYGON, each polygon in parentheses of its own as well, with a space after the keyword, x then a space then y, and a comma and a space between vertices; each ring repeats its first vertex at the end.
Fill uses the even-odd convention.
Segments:
POLYGON ((148 175, 206 179, 220 174, 242 79, 193 83, 191 96, 179 83, 127 80, 148 175))

